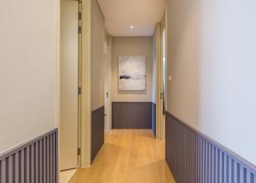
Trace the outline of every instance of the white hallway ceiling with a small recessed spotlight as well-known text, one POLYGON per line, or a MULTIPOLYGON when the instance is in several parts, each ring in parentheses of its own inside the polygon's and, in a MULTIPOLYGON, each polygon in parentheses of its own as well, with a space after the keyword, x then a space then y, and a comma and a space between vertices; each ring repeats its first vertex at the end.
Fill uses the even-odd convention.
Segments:
POLYGON ((165 10, 165 0, 98 0, 112 36, 152 36, 165 10), (130 27, 133 26, 131 29, 130 27))

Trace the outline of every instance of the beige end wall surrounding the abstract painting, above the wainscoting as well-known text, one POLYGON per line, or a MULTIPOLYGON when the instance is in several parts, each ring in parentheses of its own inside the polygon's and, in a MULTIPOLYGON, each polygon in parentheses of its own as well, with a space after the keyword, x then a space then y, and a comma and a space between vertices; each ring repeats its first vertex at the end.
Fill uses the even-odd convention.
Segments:
POLYGON ((152 101, 152 36, 112 38, 112 101, 152 101), (118 91, 118 56, 143 55, 147 60, 147 90, 118 91))

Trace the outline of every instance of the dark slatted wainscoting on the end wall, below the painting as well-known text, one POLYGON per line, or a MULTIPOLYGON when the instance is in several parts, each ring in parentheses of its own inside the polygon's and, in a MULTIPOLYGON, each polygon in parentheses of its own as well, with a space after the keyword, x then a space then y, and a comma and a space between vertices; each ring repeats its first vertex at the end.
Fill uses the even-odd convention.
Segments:
POLYGON ((113 129, 152 129, 152 102, 112 102, 113 129))

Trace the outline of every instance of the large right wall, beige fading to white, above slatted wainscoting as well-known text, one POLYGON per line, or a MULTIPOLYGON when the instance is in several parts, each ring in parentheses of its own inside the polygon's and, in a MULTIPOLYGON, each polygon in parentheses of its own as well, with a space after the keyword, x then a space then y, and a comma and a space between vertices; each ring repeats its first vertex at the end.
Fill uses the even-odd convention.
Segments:
POLYGON ((256 1, 168 1, 168 111, 256 164, 256 1), (177 18, 179 17, 179 18, 177 18))

